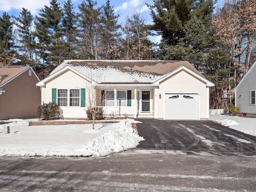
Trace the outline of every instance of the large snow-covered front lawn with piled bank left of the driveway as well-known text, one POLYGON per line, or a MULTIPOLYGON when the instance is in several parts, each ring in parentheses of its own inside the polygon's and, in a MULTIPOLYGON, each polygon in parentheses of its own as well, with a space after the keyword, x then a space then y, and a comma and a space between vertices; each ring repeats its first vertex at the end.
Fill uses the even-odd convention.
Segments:
POLYGON ((0 156, 98 157, 136 148, 144 140, 132 128, 132 119, 95 124, 94 130, 92 124, 28 126, 28 120, 8 121, 0 124, 0 156), (10 133, 4 134, 7 125, 10 133))

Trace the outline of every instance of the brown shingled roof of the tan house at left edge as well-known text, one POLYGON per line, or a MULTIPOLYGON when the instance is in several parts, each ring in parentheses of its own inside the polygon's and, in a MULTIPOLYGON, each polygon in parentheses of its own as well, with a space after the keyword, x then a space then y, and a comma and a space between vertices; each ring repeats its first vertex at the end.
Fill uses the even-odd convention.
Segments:
POLYGON ((30 66, 0 66, 0 86, 3 86, 4 84, 8 83, 12 79, 16 78, 22 72, 28 70, 28 68, 31 68, 31 67, 30 66))

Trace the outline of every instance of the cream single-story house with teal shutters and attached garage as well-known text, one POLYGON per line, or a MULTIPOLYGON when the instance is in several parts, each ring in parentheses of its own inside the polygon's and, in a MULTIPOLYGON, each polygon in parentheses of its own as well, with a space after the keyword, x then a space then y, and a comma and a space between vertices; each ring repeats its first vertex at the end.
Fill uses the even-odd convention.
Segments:
POLYGON ((209 118, 214 84, 187 61, 65 60, 37 86, 64 118, 86 118, 96 98, 106 116, 200 120, 209 118))

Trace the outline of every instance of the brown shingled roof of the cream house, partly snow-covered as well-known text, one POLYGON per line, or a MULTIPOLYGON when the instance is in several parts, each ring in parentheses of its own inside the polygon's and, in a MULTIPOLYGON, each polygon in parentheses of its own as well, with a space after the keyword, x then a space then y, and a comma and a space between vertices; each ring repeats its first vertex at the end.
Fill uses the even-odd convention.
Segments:
POLYGON ((182 66, 204 78, 187 61, 156 60, 65 60, 50 76, 69 67, 99 84, 152 84, 182 66))

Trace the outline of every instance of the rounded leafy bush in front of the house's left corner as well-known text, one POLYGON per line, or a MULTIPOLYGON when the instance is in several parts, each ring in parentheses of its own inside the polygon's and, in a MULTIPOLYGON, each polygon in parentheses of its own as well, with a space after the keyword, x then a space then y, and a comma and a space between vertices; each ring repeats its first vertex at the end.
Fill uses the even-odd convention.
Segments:
POLYGON ((37 118, 42 120, 57 120, 62 114, 62 109, 55 102, 44 103, 37 110, 37 118))

